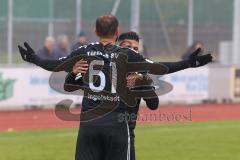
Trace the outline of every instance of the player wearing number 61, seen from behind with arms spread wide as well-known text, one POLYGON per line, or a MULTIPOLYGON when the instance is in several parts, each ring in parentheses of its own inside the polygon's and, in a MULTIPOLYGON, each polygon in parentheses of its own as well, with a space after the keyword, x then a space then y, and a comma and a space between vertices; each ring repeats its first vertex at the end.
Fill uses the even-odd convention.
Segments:
MULTIPOLYGON (((91 91, 86 93, 87 96, 83 98, 81 118, 85 112, 94 110, 101 101, 106 101, 107 103, 111 101, 109 102, 110 104, 117 105, 109 114, 92 119, 91 121, 84 121, 84 123, 81 121, 77 139, 76 160, 130 159, 128 123, 125 121, 119 122, 118 119, 118 115, 126 111, 126 105, 117 96, 120 93, 117 93, 114 87, 112 87, 114 86, 112 85, 112 78, 114 77, 110 74, 111 69, 109 66, 113 65, 114 61, 118 61, 119 55, 123 53, 127 55, 127 62, 147 61, 139 54, 136 54, 135 51, 115 45, 118 33, 119 25, 117 18, 112 15, 105 15, 98 17, 96 20, 96 35, 100 38, 99 42, 79 47, 69 56, 59 60, 44 60, 39 58, 27 43, 24 43, 26 49, 18 46, 23 60, 34 63, 49 71, 59 71, 56 70, 58 66, 79 55, 96 56, 103 60, 101 63, 94 63, 103 66, 102 70, 98 72, 100 80, 97 78, 96 81, 99 85, 96 85, 95 81, 94 83, 90 82, 87 84, 84 82, 84 85, 87 85, 91 91), (110 96, 99 96, 99 92, 101 91, 108 91, 112 94, 110 96)), ((212 61, 210 54, 199 56, 199 53, 200 50, 195 51, 185 61, 162 62, 160 64, 167 67, 167 73, 173 73, 189 67, 200 67, 212 61)), ((90 62, 89 68, 92 67, 91 64, 92 62, 90 62)), ((89 69, 89 75, 92 74, 91 72, 93 72, 93 67, 91 70, 89 69)), ((70 73, 69 76, 75 77, 76 75, 70 73)), ((117 80, 118 78, 121 77, 117 77, 117 80)))

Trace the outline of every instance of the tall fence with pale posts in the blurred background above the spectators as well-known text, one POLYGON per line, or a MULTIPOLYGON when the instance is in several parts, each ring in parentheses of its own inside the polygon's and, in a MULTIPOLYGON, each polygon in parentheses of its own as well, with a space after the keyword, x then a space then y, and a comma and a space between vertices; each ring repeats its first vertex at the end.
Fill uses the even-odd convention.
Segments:
MULTIPOLYGON (((22 62, 17 45, 28 41, 39 49, 47 35, 66 34, 74 41, 77 32, 82 30, 89 41, 96 41, 93 32, 96 17, 111 13, 117 1, 0 0, 0 63, 22 62), (12 38, 9 37, 11 26, 12 38), (10 52, 12 56, 8 56, 10 52)), ((119 0, 116 16, 121 31, 129 31, 132 21, 136 21, 131 17, 139 11, 139 31, 149 57, 179 57, 188 43, 195 40, 202 41, 218 55, 219 43, 232 40, 233 0, 137 1, 139 10, 132 6, 134 0, 119 0)))

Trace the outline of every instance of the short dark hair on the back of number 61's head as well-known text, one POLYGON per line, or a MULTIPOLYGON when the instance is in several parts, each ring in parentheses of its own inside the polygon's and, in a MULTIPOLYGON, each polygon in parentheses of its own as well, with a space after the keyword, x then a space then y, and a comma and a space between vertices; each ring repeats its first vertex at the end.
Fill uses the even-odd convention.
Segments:
POLYGON ((96 32, 100 37, 113 36, 118 28, 118 20, 113 15, 100 16, 96 20, 96 32))

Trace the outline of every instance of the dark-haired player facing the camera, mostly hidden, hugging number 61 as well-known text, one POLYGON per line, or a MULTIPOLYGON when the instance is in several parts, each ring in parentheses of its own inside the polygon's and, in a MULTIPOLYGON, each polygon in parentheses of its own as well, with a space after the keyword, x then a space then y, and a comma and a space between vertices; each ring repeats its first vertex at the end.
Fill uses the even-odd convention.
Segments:
MULTIPOLYGON (((131 48, 133 50, 136 51, 136 53, 139 54, 139 36, 136 32, 125 32, 122 33, 119 37, 118 37, 118 44, 121 47, 127 47, 127 48, 131 48)), ((86 61, 84 60, 80 60, 79 62, 77 62, 74 67, 73 67, 73 73, 74 75, 78 75, 79 73, 81 74, 86 74, 86 71, 88 70, 88 64, 86 61)), ((82 83, 81 81, 76 81, 76 76, 68 76, 68 78, 66 79, 66 83, 68 84, 76 84, 76 83, 82 83)), ((135 84, 137 84, 139 81, 146 81, 149 85, 145 85, 144 87, 139 87, 137 88, 138 90, 142 89, 142 90, 147 90, 147 89, 151 89, 153 88, 151 82, 152 80, 150 79, 150 77, 148 75, 144 75, 141 73, 132 73, 129 74, 127 76, 127 86, 129 88, 134 89, 135 84)), ((141 99, 137 100, 137 104, 134 107, 127 107, 127 110, 124 114, 119 114, 119 120, 120 121, 127 121, 128 122, 128 126, 129 126, 129 134, 130 134, 130 160, 135 160, 135 143, 134 143, 134 138, 135 138, 135 134, 134 134, 134 129, 136 127, 136 120, 138 117, 138 111, 139 111, 139 105, 140 105, 140 101, 141 99)), ((158 96, 156 95, 156 97, 152 97, 152 98, 144 98, 144 101, 147 104, 147 107, 151 110, 155 110, 158 108, 159 105, 159 99, 158 96)))

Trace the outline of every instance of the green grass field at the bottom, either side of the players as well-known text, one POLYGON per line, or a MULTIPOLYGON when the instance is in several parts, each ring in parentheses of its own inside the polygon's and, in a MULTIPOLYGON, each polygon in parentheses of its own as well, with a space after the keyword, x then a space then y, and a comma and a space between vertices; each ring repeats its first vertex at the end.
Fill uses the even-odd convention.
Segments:
MULTIPOLYGON (((1 160, 73 160, 77 129, 0 132, 1 160)), ((239 160, 240 121, 142 125, 138 160, 239 160)))

